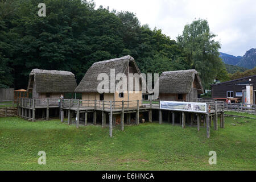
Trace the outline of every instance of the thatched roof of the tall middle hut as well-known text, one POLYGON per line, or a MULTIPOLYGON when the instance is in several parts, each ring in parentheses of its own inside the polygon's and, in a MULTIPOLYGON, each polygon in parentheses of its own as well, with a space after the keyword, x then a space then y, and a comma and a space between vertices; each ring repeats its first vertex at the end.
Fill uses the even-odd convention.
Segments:
MULTIPOLYGON (((138 74, 141 74, 134 58, 131 56, 123 56, 94 63, 85 73, 84 78, 82 78, 82 81, 79 86, 77 86, 75 92, 98 92, 97 86, 101 81, 98 81, 97 77, 100 73, 106 73, 109 76, 110 90, 110 69, 115 69, 115 76, 118 73, 125 74, 126 69, 129 67, 129 63, 137 69, 138 74)), ((117 82, 115 82, 115 84, 117 84, 117 82)))

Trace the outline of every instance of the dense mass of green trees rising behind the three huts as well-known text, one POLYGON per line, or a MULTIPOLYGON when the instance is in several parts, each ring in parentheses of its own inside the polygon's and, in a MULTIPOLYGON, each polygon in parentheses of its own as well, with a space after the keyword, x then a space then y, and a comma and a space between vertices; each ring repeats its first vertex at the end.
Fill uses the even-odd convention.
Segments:
POLYGON ((124 55, 133 56, 144 73, 196 69, 204 86, 216 76, 226 78, 220 44, 211 40, 205 20, 184 28, 183 37, 189 27, 203 26, 198 38, 177 44, 127 11, 96 10, 93 2, 81 0, 46 0, 46 17, 39 17, 40 2, 0 0, 0 86, 26 88, 33 68, 71 71, 79 83, 94 62, 124 55))

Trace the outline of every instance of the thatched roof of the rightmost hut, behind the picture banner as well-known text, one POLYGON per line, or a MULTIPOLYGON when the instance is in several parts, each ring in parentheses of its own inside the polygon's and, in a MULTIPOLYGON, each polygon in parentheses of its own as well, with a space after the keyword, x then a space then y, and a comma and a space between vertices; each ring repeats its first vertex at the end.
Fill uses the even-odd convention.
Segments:
POLYGON ((159 77, 159 93, 189 93, 195 80, 197 93, 204 93, 195 69, 163 72, 159 77))

